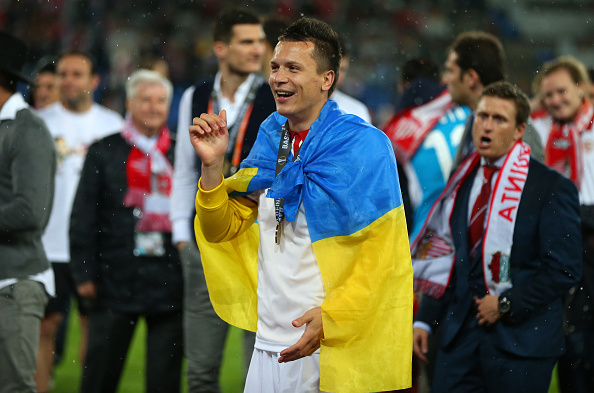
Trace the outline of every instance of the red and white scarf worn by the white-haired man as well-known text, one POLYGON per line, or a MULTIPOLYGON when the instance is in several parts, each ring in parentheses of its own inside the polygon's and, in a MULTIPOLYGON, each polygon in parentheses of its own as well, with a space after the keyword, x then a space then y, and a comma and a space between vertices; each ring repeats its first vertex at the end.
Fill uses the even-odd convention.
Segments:
POLYGON ((169 129, 164 125, 156 139, 148 138, 136 129, 128 115, 121 134, 132 146, 126 160, 128 190, 124 205, 142 211, 136 231, 171 232, 169 195, 173 167, 166 157, 171 146, 169 129))

